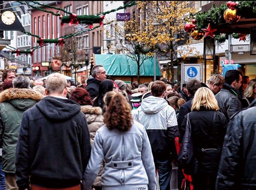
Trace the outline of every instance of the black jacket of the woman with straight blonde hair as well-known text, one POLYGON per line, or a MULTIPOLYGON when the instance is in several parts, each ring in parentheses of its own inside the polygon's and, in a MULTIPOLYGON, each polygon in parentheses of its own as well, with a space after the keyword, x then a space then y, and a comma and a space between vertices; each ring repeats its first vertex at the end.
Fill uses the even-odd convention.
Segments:
MULTIPOLYGON (((189 117, 194 156, 198 160, 198 173, 217 173, 226 134, 227 119, 223 113, 206 110, 204 107, 201 107, 199 111, 190 112, 189 117), (215 120, 213 119, 214 113, 215 120)), ((187 115, 181 125, 181 139, 186 129, 186 119, 187 115)))

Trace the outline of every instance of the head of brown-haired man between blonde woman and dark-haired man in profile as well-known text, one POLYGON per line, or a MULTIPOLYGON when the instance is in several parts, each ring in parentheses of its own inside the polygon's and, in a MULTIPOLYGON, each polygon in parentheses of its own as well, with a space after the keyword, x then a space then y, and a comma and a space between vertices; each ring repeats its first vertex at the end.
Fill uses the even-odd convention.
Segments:
POLYGON ((225 79, 222 75, 212 75, 210 78, 207 79, 206 85, 209 89, 213 92, 213 94, 218 94, 222 89, 222 85, 225 83, 225 79))

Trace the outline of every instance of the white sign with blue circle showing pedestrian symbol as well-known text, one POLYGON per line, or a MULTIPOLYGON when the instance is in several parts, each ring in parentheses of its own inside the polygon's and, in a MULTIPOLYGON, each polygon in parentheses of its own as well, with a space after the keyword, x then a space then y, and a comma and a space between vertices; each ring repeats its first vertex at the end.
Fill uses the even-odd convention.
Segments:
POLYGON ((203 82, 203 64, 181 64, 182 83, 186 83, 191 79, 203 82))

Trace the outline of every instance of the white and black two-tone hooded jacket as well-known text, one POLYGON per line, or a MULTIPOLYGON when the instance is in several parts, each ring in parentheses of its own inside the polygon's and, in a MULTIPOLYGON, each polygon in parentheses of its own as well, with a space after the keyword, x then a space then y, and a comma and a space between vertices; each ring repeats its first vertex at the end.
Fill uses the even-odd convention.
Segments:
POLYGON ((179 136, 175 109, 165 99, 149 96, 142 100, 134 120, 144 125, 154 158, 169 158, 171 144, 179 136))

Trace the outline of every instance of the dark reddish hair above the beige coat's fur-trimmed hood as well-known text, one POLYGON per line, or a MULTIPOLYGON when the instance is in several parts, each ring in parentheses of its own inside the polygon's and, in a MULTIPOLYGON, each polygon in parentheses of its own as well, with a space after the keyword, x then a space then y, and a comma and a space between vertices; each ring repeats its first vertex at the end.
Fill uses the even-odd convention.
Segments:
POLYGON ((80 106, 93 105, 89 92, 87 92, 86 89, 81 87, 72 90, 69 99, 76 101, 80 106))

